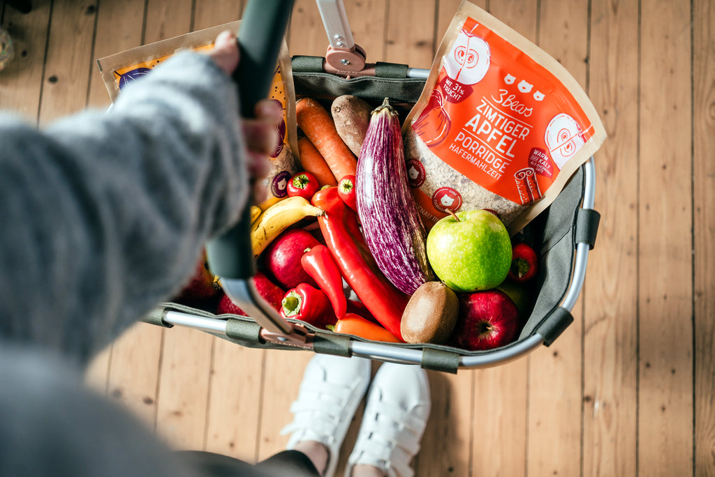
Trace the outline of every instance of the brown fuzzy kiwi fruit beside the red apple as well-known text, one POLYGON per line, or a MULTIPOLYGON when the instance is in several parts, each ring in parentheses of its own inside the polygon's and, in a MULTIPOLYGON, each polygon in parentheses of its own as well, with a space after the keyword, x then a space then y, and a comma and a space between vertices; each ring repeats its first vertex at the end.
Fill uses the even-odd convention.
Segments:
POLYGON ((403 312, 400 331, 408 343, 447 341, 459 314, 456 293, 441 281, 420 285, 403 312))

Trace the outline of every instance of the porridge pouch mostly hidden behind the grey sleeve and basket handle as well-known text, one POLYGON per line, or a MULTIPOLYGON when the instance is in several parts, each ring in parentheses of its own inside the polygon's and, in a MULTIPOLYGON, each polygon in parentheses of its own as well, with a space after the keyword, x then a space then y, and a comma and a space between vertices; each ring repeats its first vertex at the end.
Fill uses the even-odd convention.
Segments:
MULTIPOLYGON (((192 49, 206 51, 213 47, 216 36, 225 30, 238 31, 240 21, 212 26, 208 29, 174 38, 138 46, 97 60, 104 86, 114 101, 124 86, 141 78, 177 51, 192 49)), ((296 159, 297 129, 295 125, 295 90, 293 88, 290 55, 283 41, 270 89, 270 99, 278 101, 283 109, 283 121, 278 129, 280 139, 270 156, 270 171, 264 180, 267 204, 287 196, 288 179, 299 172, 296 159)))

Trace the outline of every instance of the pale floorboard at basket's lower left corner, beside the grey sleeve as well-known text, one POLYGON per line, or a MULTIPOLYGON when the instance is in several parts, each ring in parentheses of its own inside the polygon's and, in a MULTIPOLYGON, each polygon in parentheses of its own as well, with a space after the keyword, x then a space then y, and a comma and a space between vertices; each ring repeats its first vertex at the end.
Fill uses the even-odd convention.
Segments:
POLYGON ((107 395, 156 426, 159 358, 163 328, 136 323, 112 344, 107 395))

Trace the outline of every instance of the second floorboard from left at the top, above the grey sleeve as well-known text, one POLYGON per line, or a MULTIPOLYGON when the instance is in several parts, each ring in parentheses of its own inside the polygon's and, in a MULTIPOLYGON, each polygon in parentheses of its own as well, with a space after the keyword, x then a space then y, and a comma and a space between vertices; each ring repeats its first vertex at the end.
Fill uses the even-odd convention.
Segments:
POLYGON ((40 125, 84 109, 92 70, 94 2, 57 0, 51 12, 40 125))

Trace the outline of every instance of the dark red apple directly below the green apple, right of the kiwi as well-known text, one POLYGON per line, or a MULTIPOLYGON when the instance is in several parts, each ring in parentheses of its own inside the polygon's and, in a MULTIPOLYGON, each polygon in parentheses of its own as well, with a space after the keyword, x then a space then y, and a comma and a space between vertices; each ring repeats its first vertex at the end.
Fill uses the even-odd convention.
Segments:
POLYGON ((518 308, 503 291, 463 293, 451 341, 468 351, 493 349, 511 343, 518 329, 518 308))

